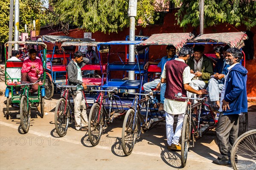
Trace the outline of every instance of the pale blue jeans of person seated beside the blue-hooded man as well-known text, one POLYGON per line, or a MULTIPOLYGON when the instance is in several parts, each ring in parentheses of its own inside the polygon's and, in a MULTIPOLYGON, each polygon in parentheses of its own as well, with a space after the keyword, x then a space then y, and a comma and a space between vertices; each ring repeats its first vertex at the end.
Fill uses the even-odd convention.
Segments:
POLYGON ((211 102, 220 100, 219 94, 221 93, 223 86, 224 81, 222 79, 209 79, 207 91, 209 92, 209 100, 211 102))

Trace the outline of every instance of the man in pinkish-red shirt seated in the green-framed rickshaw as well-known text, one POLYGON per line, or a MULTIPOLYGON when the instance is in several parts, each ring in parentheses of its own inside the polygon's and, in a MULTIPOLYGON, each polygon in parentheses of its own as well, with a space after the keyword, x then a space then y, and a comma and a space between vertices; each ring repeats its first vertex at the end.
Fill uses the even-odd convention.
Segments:
MULTIPOLYGON (((41 74, 43 74, 43 64, 40 59, 36 58, 37 51, 34 48, 29 50, 29 59, 23 62, 21 68, 21 83, 29 82, 34 83, 38 80, 41 74)), ((22 87, 23 88, 23 87, 22 87)), ((32 85, 30 93, 38 91, 38 85, 32 85)))

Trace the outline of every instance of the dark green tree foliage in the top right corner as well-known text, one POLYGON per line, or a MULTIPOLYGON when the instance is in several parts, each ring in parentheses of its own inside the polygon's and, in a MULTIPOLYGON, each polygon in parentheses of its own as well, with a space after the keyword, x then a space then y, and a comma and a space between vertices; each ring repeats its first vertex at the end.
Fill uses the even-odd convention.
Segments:
MULTIPOLYGON (((180 5, 176 19, 179 26, 199 26, 199 0, 173 0, 180 5)), ((204 27, 229 23, 244 24, 247 29, 256 26, 256 1, 254 0, 205 0, 204 27)))

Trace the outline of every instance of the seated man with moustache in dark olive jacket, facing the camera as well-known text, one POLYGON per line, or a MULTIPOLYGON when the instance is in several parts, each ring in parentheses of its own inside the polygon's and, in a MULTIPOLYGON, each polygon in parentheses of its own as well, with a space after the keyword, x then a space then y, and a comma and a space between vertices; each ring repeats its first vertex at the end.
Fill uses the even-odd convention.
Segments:
MULTIPOLYGON (((190 73, 195 74, 195 77, 189 85, 195 90, 206 89, 213 74, 213 64, 211 59, 204 55, 204 45, 195 45, 193 49, 194 56, 188 59, 187 64, 191 69, 190 73)), ((187 92, 187 96, 194 98, 196 94, 187 92)))

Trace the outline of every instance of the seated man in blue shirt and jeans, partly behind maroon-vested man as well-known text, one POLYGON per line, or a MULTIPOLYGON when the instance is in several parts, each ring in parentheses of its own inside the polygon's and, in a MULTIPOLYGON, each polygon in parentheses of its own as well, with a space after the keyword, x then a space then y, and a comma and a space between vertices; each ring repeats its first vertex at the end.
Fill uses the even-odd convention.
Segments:
MULTIPOLYGON (((166 53, 167 56, 163 57, 161 59, 161 61, 159 63, 157 62, 147 62, 144 66, 144 69, 146 70, 148 68, 149 64, 158 64, 157 67, 161 68, 161 72, 163 72, 163 68, 164 65, 167 61, 173 60, 175 58, 177 58, 176 56, 176 48, 173 45, 168 45, 166 47, 166 53)), ((159 111, 163 111, 163 102, 164 102, 164 93, 165 93, 165 89, 166 89, 166 83, 161 83, 161 78, 160 79, 154 79, 152 82, 147 82, 143 85, 143 88, 145 91, 151 92, 152 88, 157 88, 157 90, 160 90, 161 87, 161 91, 160 91, 160 103, 158 103, 157 99, 156 102, 154 103, 154 107, 156 108, 157 105, 159 106, 159 111)), ((153 99, 153 97, 151 96, 151 98, 153 99)), ((154 102, 154 100, 153 100, 154 102)))

